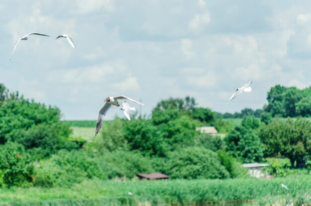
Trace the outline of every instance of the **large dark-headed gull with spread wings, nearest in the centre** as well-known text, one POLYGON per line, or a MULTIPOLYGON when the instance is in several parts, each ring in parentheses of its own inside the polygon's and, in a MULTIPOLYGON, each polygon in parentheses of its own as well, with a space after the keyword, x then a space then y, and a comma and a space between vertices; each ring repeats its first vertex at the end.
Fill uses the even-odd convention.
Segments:
POLYGON ((101 128, 104 116, 106 115, 107 111, 111 108, 111 106, 112 105, 120 106, 119 103, 121 103, 121 102, 123 103, 125 100, 129 100, 129 101, 132 101, 133 103, 145 105, 143 103, 139 103, 139 102, 132 100, 131 98, 128 98, 125 96, 107 97, 104 101, 104 105, 99 109, 98 114, 97 114, 95 136, 98 134, 98 132, 101 128))

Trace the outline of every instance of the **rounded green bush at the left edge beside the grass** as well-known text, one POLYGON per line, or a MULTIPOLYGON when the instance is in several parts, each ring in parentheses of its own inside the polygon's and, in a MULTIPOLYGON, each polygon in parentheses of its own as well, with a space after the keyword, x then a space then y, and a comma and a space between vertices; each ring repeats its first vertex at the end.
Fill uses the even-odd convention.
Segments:
POLYGON ((33 165, 21 144, 7 142, 0 145, 0 171, 3 183, 9 187, 31 184, 33 165))

